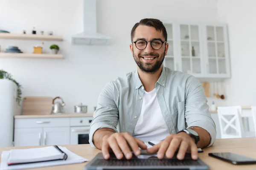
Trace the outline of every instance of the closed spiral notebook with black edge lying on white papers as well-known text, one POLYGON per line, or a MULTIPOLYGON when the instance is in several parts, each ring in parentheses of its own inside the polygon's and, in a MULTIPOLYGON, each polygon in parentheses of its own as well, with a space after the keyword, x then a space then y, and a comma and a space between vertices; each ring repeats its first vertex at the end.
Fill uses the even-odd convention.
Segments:
POLYGON ((8 165, 35 163, 42 161, 66 160, 67 154, 58 146, 39 147, 31 149, 12 149, 8 165))

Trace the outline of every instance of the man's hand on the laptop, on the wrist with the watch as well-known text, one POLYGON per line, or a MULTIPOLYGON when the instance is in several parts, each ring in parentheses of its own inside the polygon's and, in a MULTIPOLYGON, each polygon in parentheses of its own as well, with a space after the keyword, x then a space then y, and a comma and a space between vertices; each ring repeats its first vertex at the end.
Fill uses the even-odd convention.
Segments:
POLYGON ((175 135, 169 135, 162 142, 148 148, 148 153, 157 153, 158 159, 163 159, 164 155, 167 158, 172 158, 179 148, 177 159, 184 159, 186 151, 191 151, 192 159, 198 159, 198 150, 195 144, 195 139, 190 137, 186 132, 181 132, 175 135))

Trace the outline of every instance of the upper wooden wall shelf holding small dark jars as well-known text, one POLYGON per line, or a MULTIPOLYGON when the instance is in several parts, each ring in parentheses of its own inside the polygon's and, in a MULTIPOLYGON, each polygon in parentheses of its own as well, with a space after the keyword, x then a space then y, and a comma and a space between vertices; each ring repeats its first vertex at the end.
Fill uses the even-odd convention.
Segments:
POLYGON ((56 36, 56 35, 12 34, 12 33, 0 33, 0 39, 63 41, 62 36, 56 36))

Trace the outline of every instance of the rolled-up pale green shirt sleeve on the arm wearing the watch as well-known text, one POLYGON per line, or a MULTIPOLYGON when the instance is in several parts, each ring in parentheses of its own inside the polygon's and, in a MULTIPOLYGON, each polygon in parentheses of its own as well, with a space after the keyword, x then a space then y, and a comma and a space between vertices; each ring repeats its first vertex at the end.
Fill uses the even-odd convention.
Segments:
POLYGON ((207 147, 215 142, 216 126, 209 113, 204 88, 198 79, 192 76, 186 82, 185 119, 187 128, 198 126, 207 130, 211 137, 207 147))

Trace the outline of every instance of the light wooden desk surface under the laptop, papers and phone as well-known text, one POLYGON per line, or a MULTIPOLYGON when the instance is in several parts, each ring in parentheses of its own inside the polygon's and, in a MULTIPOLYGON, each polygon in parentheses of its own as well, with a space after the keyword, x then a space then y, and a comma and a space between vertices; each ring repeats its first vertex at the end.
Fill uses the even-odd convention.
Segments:
MULTIPOLYGON (((70 151, 91 160, 100 152, 98 149, 91 148, 89 144, 63 145, 70 151)), ((32 147, 0 147, 0 152, 14 148, 32 148, 32 147)), ((256 164, 253 165, 233 165, 208 156, 210 152, 233 152, 243 156, 256 159, 256 137, 237 138, 237 139, 216 139, 216 142, 209 148, 204 148, 204 153, 199 153, 199 157, 209 165, 211 170, 256 170, 256 164)), ((42 167, 36 170, 83 170, 86 162, 82 164, 61 165, 55 167, 42 167)))

